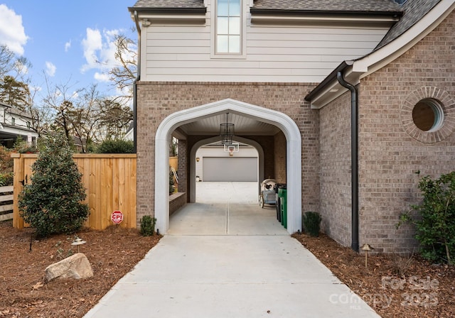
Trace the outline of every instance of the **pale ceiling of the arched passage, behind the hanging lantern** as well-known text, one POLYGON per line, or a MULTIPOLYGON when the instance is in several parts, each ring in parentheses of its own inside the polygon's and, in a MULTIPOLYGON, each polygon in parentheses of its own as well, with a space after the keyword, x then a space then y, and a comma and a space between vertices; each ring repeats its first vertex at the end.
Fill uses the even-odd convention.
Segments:
MULTIPOLYGON (((226 122, 226 113, 200 118, 178 127, 186 135, 210 135, 220 133, 220 124, 226 122)), ((279 128, 263 121, 249 118, 242 114, 228 113, 228 122, 234 124, 237 136, 272 136, 279 128)))

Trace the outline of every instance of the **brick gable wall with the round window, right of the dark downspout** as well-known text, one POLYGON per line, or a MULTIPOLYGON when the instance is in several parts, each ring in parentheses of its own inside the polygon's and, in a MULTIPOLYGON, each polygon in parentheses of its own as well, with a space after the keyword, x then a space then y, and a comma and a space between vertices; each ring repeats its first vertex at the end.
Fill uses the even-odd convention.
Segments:
POLYGON ((395 229, 400 213, 419 202, 422 175, 455 170, 454 26, 451 13, 414 48, 361 81, 360 244, 376 251, 412 251, 412 226, 395 229), (444 127, 434 133, 412 123, 412 106, 426 97, 444 104, 444 127))

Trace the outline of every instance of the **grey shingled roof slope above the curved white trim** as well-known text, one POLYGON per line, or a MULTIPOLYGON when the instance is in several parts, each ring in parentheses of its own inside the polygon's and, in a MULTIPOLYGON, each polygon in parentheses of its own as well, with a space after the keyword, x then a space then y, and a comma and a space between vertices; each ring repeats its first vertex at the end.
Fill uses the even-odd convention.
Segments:
POLYGON ((395 38, 405 33, 407 29, 414 26, 425 14, 427 14, 434 6, 436 6, 441 0, 408 0, 403 4, 402 9, 404 14, 400 21, 395 23, 390 31, 381 40, 375 50, 382 48, 382 46, 390 43, 395 38))

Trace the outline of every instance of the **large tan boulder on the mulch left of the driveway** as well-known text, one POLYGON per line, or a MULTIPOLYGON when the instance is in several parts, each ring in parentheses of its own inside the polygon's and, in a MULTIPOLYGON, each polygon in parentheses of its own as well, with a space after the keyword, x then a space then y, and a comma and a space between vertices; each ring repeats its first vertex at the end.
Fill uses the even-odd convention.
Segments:
POLYGON ((92 265, 83 253, 76 253, 64 260, 53 263, 45 269, 45 281, 55 278, 89 278, 93 276, 92 265))

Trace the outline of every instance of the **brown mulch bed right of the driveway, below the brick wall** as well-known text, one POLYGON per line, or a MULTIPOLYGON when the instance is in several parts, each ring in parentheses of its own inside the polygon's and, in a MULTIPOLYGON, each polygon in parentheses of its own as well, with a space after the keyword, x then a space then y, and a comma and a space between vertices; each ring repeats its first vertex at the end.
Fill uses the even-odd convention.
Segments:
MULTIPOLYGON (((381 317, 455 317, 455 267, 432 265, 419 256, 365 255, 328 236, 294 235, 333 274, 381 317)), ((355 298, 340 295, 336 302, 355 298)))

